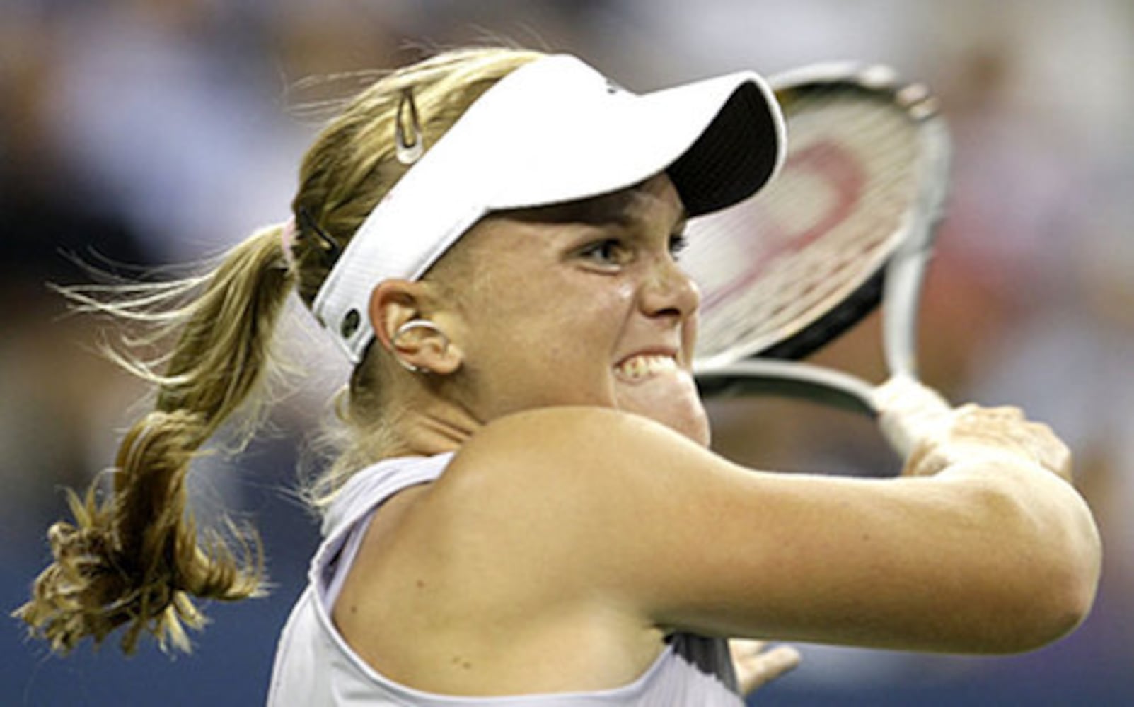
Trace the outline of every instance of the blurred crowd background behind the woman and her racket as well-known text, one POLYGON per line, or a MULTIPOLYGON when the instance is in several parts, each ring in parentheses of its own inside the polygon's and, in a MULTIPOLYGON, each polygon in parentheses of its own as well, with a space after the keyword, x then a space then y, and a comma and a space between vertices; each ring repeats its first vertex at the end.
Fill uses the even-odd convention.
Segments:
MULTIPOLYGON (((1103 529, 1102 590, 1075 634, 1036 653, 803 646, 803 666, 753 701, 1134 704, 1129 0, 0 0, 5 613, 46 560, 61 489, 110 466, 143 392, 94 354, 103 323, 67 316, 45 283, 85 281, 75 257, 162 266, 284 220, 315 129, 294 108, 325 97, 297 90, 301 79, 499 41, 579 53, 634 90, 858 59, 941 95, 954 196, 923 308, 923 374, 954 400, 1021 404, 1065 436, 1103 529)), ((341 374, 295 314, 315 383, 279 406, 249 453, 194 472, 203 508, 262 529, 271 596, 209 607, 213 625, 176 659, 153 648, 126 659, 113 645, 59 659, 9 620, 0 702, 263 701, 318 534, 289 492, 296 441, 341 374)), ((820 357, 874 374, 875 330, 869 321, 820 357)), ((721 451, 748 463, 847 474, 896 463, 865 420, 775 400, 711 410, 721 451)))

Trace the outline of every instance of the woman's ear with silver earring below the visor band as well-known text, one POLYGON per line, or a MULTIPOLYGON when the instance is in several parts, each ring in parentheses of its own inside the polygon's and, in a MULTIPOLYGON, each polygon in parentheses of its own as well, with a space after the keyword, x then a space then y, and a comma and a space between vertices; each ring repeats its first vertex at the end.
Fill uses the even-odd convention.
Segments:
POLYGON ((430 303, 422 282, 384 280, 371 292, 370 321, 379 344, 404 368, 448 375, 460 367, 463 355, 431 318, 430 303))

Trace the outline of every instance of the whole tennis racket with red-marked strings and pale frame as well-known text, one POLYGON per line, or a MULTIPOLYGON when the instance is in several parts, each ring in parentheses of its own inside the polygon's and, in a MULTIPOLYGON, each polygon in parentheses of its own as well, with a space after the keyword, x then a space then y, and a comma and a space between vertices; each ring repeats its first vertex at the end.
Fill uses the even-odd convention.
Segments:
POLYGON ((950 410, 917 383, 915 351, 948 191, 945 120, 924 86, 887 67, 815 65, 771 83, 788 127, 780 174, 758 196, 689 224, 683 265, 702 290, 697 384, 710 397, 896 411, 883 433, 905 457, 950 410), (879 303, 883 385, 796 360, 879 303))

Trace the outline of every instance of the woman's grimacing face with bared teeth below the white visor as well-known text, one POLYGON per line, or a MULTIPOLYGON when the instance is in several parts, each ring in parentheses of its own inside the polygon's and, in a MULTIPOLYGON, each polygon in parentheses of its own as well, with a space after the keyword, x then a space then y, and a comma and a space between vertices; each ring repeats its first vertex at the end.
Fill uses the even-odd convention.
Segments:
POLYGON ((460 321, 439 322, 465 342, 458 400, 482 423, 549 404, 621 409, 708 444, 684 225, 663 176, 482 221, 451 254, 472 283, 456 293, 460 321))

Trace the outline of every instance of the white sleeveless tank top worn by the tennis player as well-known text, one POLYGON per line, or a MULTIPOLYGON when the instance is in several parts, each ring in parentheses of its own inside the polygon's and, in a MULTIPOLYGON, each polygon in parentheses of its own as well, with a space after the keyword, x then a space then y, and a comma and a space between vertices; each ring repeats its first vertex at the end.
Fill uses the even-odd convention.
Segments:
POLYGON ((331 607, 374 510, 399 491, 437 479, 452 454, 381 461, 344 485, 323 519, 308 585, 284 627, 268 693, 270 707, 742 707, 725 641, 680 634, 634 682, 609 690, 458 697, 423 692, 375 671, 331 622, 331 607))

